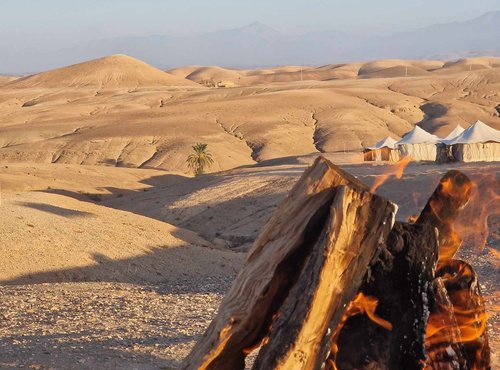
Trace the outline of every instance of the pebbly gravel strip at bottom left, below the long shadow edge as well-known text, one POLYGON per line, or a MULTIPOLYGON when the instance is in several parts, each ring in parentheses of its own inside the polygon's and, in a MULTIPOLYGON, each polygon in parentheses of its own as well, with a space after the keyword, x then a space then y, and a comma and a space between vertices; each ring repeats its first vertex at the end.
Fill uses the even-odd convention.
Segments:
POLYGON ((2 287, 0 368, 175 368, 230 282, 2 287))

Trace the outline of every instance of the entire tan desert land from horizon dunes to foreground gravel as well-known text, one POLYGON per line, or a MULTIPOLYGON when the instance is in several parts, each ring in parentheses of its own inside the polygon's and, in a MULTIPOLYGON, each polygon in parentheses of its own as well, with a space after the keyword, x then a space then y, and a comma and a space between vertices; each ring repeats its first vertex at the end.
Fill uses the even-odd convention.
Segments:
MULTIPOLYGON (((0 77, 0 367, 176 368, 315 157, 370 185, 390 166, 363 164, 364 146, 477 119, 500 129, 499 58, 165 72, 113 55, 0 77), (214 165, 193 177, 196 142, 214 165)), ((498 195, 498 163, 410 164, 377 192, 406 220, 450 168, 498 195)), ((499 366, 500 207, 484 194, 460 254, 499 366)))

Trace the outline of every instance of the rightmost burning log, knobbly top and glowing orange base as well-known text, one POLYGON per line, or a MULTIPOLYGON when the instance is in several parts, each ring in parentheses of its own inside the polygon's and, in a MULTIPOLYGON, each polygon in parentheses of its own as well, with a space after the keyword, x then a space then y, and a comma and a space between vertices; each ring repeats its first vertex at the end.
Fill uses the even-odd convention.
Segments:
POLYGON ((488 369, 490 351, 486 311, 477 275, 467 263, 454 260, 462 240, 454 229, 473 188, 459 171, 440 181, 417 223, 439 232, 439 264, 427 326, 428 369, 488 369))

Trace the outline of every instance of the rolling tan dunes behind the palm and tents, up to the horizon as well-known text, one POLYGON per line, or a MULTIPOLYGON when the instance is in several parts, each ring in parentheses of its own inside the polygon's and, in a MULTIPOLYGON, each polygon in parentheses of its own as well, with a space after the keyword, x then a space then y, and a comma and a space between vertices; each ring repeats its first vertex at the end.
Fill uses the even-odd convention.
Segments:
POLYGON ((186 67, 175 76, 133 58, 108 57, 1 87, 0 162, 186 173, 191 146, 201 141, 214 155, 210 171, 220 171, 280 157, 360 151, 383 137, 401 137, 415 124, 437 135, 477 119, 500 128, 500 68, 443 65, 384 60, 302 71, 186 67), (398 77, 406 70, 409 77, 398 77), (206 88, 184 79, 188 72, 192 79, 212 74, 219 77, 214 81, 245 86, 206 88), (104 75, 111 78, 107 88, 92 85, 105 83, 104 75), (169 85, 155 85, 158 76, 169 85), (172 79, 188 85, 172 88, 172 79), (42 87, 44 81, 65 87, 42 87), (142 87, 124 88, 128 84, 142 87))

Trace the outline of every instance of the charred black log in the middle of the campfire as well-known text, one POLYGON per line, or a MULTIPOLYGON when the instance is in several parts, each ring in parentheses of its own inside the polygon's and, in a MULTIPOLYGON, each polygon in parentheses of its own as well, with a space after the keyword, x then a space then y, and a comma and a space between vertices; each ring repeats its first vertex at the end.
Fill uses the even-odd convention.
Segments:
POLYGON ((385 248, 372 263, 361 293, 377 297, 376 314, 349 317, 338 328, 333 369, 421 369, 426 360, 425 333, 438 244, 434 228, 397 222, 385 248))

